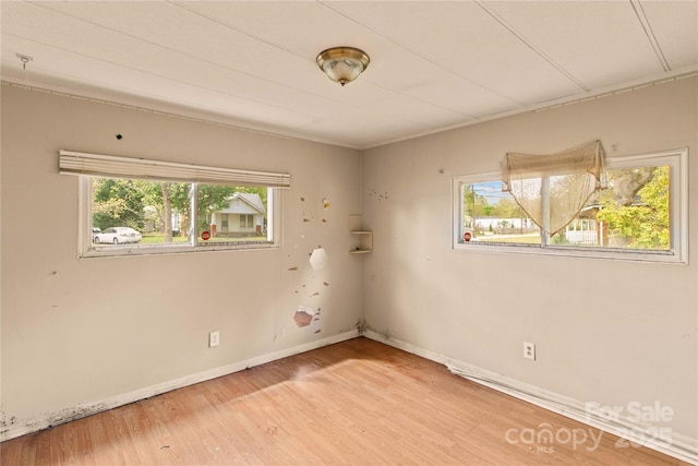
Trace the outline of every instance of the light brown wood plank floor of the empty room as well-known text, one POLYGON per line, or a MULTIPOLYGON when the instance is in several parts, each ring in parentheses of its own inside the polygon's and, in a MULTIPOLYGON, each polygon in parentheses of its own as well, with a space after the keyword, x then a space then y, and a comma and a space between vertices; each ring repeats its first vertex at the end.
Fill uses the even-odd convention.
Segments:
POLYGON ((3 466, 687 464, 366 338, 0 447, 3 466), (545 429, 551 443, 539 435, 545 429))

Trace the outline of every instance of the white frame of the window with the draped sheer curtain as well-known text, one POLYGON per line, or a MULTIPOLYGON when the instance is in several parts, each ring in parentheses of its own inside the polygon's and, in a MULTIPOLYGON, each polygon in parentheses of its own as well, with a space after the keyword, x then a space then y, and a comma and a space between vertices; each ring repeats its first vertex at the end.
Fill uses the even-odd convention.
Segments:
POLYGON ((561 255, 574 258, 597 258, 622 261, 662 262, 688 264, 688 147, 643 155, 610 157, 606 169, 667 165, 670 167, 670 229, 672 244, 669 251, 626 250, 612 248, 580 248, 569 246, 513 244, 513 243, 462 243, 462 206, 460 187, 464 183, 492 181, 501 178, 501 172, 458 176, 452 178, 452 248, 459 251, 518 253, 539 255, 561 255))

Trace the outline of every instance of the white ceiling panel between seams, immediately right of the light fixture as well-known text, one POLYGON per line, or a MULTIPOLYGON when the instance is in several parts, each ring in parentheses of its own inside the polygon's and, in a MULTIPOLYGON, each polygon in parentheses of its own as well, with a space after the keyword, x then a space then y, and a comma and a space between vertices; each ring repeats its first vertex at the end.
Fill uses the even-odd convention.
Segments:
POLYGON ((464 82, 520 105, 581 91, 477 3, 406 2, 399 15, 389 2, 337 8, 464 82))

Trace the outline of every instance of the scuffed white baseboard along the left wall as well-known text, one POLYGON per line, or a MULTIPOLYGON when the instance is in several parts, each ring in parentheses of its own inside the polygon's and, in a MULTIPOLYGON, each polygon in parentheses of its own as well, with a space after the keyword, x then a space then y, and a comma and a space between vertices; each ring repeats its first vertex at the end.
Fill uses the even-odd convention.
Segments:
POLYGON ((34 419, 26 419, 24 421, 14 419, 11 426, 8 426, 7 428, 3 426, 3 430, 0 432, 0 442, 14 439, 17 437, 26 435, 27 433, 37 432, 39 430, 44 430, 49 427, 56 427, 72 420, 77 420, 87 416, 95 415, 97 413, 106 411, 108 409, 112 409, 119 406, 128 405, 130 403, 139 402, 141 399, 146 399, 156 395, 161 395, 163 393, 171 392, 172 390, 181 389, 183 386, 193 385, 200 382, 205 382, 207 380, 216 379, 222 375, 228 375, 233 372, 239 372, 249 368, 253 368, 255 366, 261 366, 267 362, 276 361, 278 359, 287 358, 289 356, 299 355, 301 353, 310 351, 312 349, 321 348, 323 346, 334 345, 335 343, 352 339, 358 336, 359 336, 358 330, 344 332, 337 335, 328 336, 326 338, 322 338, 322 339, 310 342, 303 345, 294 346, 292 348, 281 349, 281 350, 269 353, 266 355, 256 356, 254 358, 245 359, 239 362, 233 362, 231 365, 224 366, 220 368, 210 369, 207 371, 186 375, 181 379, 171 380, 168 382, 159 383, 157 385, 147 386, 145 389, 135 390, 133 392, 117 395, 98 403, 79 405, 72 408, 62 409, 57 413, 49 413, 40 419, 34 418, 34 419))

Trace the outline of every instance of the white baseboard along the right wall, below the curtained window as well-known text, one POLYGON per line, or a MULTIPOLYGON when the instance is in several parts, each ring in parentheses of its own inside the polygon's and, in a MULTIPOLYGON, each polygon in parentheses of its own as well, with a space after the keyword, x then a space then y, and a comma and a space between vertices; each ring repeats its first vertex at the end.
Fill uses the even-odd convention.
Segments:
POLYGON ((585 403, 578 399, 549 392, 539 386, 530 385, 506 375, 448 358, 444 355, 392 338, 372 330, 366 330, 363 336, 424 359, 442 363, 457 375, 628 441, 623 441, 623 445, 619 444, 618 447, 628 447, 630 446, 629 442, 631 442, 633 444, 640 444, 675 458, 698 465, 698 439, 682 435, 677 432, 671 432, 669 435, 658 434, 651 430, 651 426, 641 425, 634 419, 629 419, 627 415, 614 415, 613 419, 609 419, 601 413, 589 413, 585 403))

